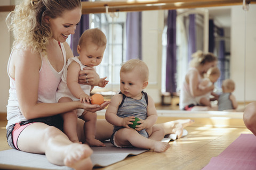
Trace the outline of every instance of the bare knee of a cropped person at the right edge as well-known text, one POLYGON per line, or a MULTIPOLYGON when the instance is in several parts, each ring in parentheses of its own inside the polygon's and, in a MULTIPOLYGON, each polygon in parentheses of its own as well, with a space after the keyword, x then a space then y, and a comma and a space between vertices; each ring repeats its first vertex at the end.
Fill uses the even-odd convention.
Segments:
POLYGON ((246 128, 256 135, 256 102, 250 103, 245 107, 243 120, 246 128))

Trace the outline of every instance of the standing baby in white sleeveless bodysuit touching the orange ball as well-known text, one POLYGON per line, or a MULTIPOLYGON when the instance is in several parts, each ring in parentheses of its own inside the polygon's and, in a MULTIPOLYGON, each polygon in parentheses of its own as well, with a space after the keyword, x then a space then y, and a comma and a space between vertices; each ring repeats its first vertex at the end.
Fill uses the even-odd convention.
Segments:
MULTIPOLYGON (((81 102, 90 102, 90 92, 93 86, 87 84, 78 84, 79 71, 84 67, 93 67, 101 63, 105 52, 107 39, 105 34, 98 28, 85 30, 79 39, 77 52, 79 56, 68 59, 67 66, 63 71, 61 82, 59 84, 56 100, 57 102, 67 102, 80 100, 81 102)), ((105 78, 101 78, 99 87, 105 87, 108 83, 105 78)), ((86 83, 89 83, 86 77, 86 83)), ((84 132, 85 141, 90 146, 105 146, 101 141, 95 139, 95 129, 97 114, 77 109, 75 111, 62 114, 63 130, 70 141, 79 142, 77 137, 77 117, 85 121, 84 132)))

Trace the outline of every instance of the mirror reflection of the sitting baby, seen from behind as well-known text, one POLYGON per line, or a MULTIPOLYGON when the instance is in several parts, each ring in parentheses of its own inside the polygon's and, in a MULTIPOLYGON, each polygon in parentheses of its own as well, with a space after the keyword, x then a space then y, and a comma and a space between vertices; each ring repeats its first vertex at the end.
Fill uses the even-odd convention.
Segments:
POLYGON ((222 94, 218 96, 218 111, 234 111, 238 104, 232 92, 235 90, 235 82, 231 79, 222 81, 222 94))

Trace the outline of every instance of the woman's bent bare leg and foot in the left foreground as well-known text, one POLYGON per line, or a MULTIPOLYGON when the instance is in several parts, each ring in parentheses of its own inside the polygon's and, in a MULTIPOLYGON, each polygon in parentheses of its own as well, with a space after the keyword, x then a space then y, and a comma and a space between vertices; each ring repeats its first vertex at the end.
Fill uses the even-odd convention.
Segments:
POLYGON ((18 147, 22 151, 45 154, 52 164, 92 169, 89 146, 71 142, 59 129, 44 123, 28 125, 20 133, 18 147))

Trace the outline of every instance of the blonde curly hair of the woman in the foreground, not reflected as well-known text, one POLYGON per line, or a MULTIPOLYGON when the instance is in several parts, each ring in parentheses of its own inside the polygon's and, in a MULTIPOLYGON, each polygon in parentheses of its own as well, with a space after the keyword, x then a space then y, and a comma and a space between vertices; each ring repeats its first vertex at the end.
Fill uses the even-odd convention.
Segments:
POLYGON ((6 24, 13 31, 14 43, 23 49, 46 55, 46 45, 52 37, 50 25, 44 17, 58 18, 63 12, 81 7, 80 0, 23 0, 15 6, 6 18, 6 24))

